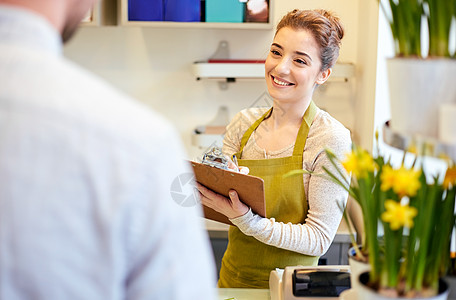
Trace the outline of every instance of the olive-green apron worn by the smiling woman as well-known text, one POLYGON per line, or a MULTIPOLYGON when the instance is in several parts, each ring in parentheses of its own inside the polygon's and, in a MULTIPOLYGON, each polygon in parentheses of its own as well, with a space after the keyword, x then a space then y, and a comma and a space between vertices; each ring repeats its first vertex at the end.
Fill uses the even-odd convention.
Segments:
MULTIPOLYGON (((292 156, 242 159, 244 146, 270 111, 245 132, 236 156, 239 165, 249 167, 250 175, 264 180, 266 217, 275 218, 278 222, 303 224, 308 209, 303 178, 302 176, 283 178, 283 175, 291 170, 302 169, 302 154, 317 107, 311 102, 307 108, 292 156)), ((223 256, 220 270, 219 287, 222 288, 269 288, 269 274, 275 268, 296 265, 314 266, 318 263, 317 256, 307 256, 266 245, 254 237, 246 236, 236 226, 230 226, 228 239, 228 248, 223 256)))

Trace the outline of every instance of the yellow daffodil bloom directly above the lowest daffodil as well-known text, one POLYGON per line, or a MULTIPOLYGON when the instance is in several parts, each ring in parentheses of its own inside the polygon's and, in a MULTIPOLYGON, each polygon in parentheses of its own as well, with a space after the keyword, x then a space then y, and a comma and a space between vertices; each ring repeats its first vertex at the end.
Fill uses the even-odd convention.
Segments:
POLYGON ((382 181, 380 189, 387 191, 392 188, 400 198, 403 196, 413 197, 421 187, 420 176, 421 171, 406 169, 404 166, 394 170, 391 166, 386 165, 380 175, 382 181))

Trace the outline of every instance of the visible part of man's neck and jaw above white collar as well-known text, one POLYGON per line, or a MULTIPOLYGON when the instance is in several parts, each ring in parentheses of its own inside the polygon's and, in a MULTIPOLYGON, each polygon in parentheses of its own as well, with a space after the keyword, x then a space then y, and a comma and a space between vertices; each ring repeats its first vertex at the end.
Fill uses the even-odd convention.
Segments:
POLYGON ((0 0, 0 4, 31 10, 45 17, 68 41, 97 0, 0 0))

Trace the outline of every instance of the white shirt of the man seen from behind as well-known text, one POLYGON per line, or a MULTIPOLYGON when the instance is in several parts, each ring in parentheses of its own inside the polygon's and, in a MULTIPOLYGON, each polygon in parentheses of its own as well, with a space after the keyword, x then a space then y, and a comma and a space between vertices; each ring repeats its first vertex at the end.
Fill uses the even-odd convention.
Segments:
POLYGON ((176 132, 61 53, 0 6, 0 299, 214 299, 201 208, 171 197, 176 132))

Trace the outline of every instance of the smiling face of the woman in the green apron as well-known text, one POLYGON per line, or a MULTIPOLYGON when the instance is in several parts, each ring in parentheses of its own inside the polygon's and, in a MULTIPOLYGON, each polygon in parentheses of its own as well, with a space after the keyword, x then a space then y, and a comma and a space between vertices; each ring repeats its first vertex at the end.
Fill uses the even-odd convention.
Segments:
POLYGON ((265 63, 269 94, 282 103, 310 101, 315 85, 325 82, 331 72, 320 68, 320 49, 309 31, 280 29, 265 63))

